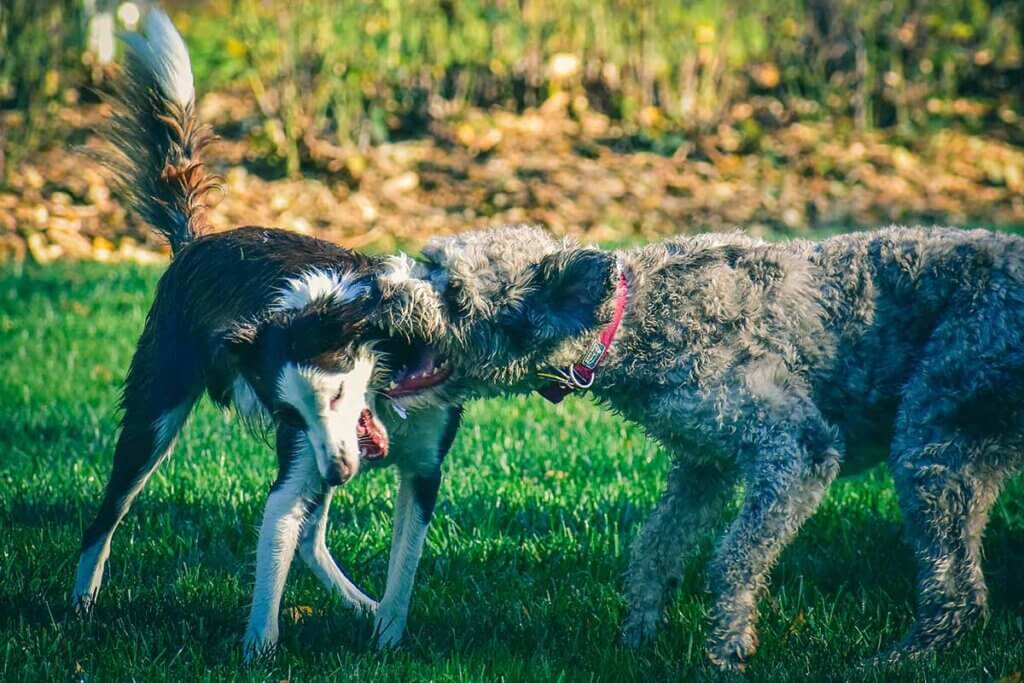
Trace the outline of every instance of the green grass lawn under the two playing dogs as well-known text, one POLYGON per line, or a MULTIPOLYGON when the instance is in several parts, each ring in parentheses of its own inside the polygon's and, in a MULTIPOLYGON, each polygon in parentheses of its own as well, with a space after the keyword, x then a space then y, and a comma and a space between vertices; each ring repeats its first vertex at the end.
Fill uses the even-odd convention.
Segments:
MULTIPOLYGON (((472 405, 450 456, 400 650, 296 564, 271 665, 244 669, 240 638, 273 456, 203 404, 114 541, 93 616, 67 607, 77 546, 98 503, 120 378, 158 270, 0 269, 0 680, 693 680, 705 661, 702 562, 652 647, 615 645, 630 540, 665 455, 583 399, 472 405)), ((336 497, 329 544, 379 594, 392 477, 336 497)), ((871 680, 995 680, 1024 668, 1024 487, 987 536, 992 617, 941 660, 871 680)), ((708 549, 701 553, 707 559, 708 549)), ((856 679, 851 663, 909 625, 913 570, 884 470, 835 485, 783 554, 762 603, 750 680, 856 679)), ((727 677, 726 677, 727 678, 727 677)))

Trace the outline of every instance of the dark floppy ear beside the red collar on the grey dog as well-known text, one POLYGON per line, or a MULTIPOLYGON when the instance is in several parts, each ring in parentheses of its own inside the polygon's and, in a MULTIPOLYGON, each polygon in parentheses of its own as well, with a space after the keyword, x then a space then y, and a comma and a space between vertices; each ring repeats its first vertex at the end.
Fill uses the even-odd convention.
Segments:
POLYGON ((595 327, 613 267, 612 258, 597 249, 560 251, 541 259, 522 307, 534 339, 556 340, 595 327))

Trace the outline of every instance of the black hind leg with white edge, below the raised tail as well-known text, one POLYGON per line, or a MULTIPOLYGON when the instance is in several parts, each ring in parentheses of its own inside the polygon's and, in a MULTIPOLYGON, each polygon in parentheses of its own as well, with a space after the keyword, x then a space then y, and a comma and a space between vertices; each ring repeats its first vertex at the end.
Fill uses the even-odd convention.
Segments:
POLYGON ((148 361, 151 348, 140 345, 125 382, 124 416, 111 478, 99 511, 82 539, 75 571, 72 605, 77 610, 88 610, 95 601, 115 529, 170 454, 202 390, 194 368, 156 368, 148 361))

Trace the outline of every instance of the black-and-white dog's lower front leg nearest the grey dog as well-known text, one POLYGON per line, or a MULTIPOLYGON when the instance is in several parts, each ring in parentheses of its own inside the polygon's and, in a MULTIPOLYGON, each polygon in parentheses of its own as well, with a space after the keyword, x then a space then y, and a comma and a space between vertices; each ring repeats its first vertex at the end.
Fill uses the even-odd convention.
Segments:
POLYGON ((398 473, 387 587, 377 610, 375 628, 381 648, 397 645, 406 630, 416 569, 423 555, 423 544, 440 481, 439 469, 436 473, 425 475, 409 471, 398 473))

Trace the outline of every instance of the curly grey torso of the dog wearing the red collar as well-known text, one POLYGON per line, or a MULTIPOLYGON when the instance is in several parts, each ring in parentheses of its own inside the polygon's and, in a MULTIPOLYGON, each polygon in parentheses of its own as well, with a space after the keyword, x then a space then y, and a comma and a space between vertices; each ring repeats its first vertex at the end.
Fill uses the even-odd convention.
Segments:
POLYGON ((753 359, 774 357, 856 451, 888 443, 929 353, 955 352, 934 348, 938 331, 962 331, 961 350, 981 362, 992 349, 969 351, 971 335, 998 336, 1008 369, 1024 347, 1024 240, 1014 236, 893 227, 772 244, 708 234, 621 258, 634 279, 630 310, 597 387, 616 387, 609 400, 640 421, 659 396, 726 386, 753 359))

